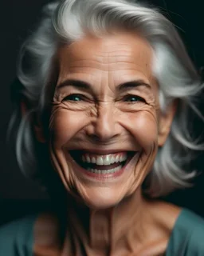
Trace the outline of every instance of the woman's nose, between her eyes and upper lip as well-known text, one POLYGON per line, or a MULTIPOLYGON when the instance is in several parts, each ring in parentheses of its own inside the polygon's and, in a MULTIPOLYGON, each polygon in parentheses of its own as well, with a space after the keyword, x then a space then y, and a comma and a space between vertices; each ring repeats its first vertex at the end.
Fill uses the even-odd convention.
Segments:
POLYGON ((87 134, 99 142, 109 142, 121 133, 121 127, 118 122, 118 115, 114 106, 104 103, 98 106, 93 121, 87 127, 87 134))

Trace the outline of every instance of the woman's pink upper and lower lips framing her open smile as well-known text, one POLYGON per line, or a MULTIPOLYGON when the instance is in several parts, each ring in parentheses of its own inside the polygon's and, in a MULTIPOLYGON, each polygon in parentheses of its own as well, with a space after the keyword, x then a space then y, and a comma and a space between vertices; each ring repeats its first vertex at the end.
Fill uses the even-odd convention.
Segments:
MULTIPOLYGON (((94 152, 94 154, 113 154, 116 152, 127 152, 124 150, 80 150, 80 152, 94 152)), ((129 151, 130 152, 130 151, 129 151)), ((133 152, 133 151, 131 151, 133 152)), ((74 169, 76 171, 77 174, 79 174, 82 178, 87 178, 91 181, 94 182, 103 182, 103 181, 112 181, 115 180, 116 178, 120 178, 122 176, 122 174, 124 174, 124 172, 126 170, 128 170, 128 167, 130 166, 131 162, 133 159, 135 159, 135 156, 139 155, 139 151, 134 151, 134 154, 131 154, 128 156, 128 160, 125 164, 125 166, 123 166, 120 170, 116 171, 113 174, 94 174, 92 172, 89 172, 88 170, 84 170, 84 168, 82 168, 73 158, 72 156, 69 154, 69 158, 71 158, 72 162, 73 162, 73 166, 74 169)), ((134 161, 134 160, 133 160, 134 161)))

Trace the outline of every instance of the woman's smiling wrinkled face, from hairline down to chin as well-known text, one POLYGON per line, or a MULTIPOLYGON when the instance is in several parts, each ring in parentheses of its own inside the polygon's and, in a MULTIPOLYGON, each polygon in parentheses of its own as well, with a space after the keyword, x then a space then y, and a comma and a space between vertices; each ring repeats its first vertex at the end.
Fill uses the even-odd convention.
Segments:
POLYGON ((86 37, 63 46, 58 58, 49 123, 53 166, 86 205, 114 206, 140 189, 167 137, 159 128, 151 46, 128 33, 86 37))

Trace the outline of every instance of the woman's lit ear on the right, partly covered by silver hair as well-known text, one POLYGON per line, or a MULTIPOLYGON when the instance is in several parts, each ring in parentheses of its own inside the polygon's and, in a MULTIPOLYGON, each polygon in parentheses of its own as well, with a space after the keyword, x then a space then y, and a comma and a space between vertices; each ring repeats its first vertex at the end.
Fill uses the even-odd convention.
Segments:
POLYGON ((159 135, 158 135, 158 146, 163 146, 167 140, 167 137, 171 130, 171 124, 175 117, 175 111, 177 108, 177 102, 172 102, 165 113, 160 111, 159 114, 159 135))

